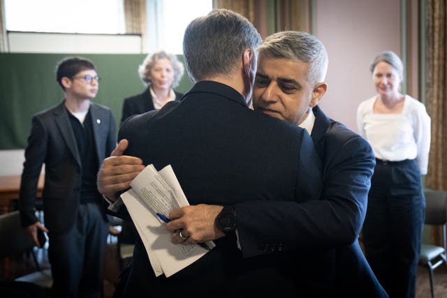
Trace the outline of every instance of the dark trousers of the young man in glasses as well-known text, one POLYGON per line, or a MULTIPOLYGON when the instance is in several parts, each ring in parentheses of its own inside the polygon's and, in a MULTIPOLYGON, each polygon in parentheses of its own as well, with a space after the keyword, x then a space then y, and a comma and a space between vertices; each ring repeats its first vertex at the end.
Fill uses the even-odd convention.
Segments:
POLYGON ((108 223, 98 204, 80 204, 67 234, 48 234, 51 297, 99 297, 103 286, 108 223))

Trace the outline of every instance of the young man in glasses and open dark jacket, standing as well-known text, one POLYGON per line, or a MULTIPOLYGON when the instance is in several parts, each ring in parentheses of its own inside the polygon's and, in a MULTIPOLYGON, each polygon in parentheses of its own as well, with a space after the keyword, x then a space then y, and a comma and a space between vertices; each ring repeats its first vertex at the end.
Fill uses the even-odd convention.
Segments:
POLYGON ((96 189, 98 167, 116 145, 107 107, 91 103, 98 92, 94 64, 67 58, 57 67, 65 99, 36 114, 25 150, 20 215, 37 246, 38 230, 48 233, 52 297, 98 297, 108 221, 96 189), (35 215, 36 188, 45 163, 45 226, 35 215))

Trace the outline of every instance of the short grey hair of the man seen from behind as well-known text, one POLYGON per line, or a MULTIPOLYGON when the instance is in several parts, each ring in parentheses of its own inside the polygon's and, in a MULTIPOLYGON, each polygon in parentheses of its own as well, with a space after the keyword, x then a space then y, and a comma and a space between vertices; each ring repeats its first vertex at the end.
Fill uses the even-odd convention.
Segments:
POLYGON ((242 59, 244 50, 253 50, 262 39, 242 15, 226 9, 212 10, 186 27, 183 54, 186 70, 193 82, 214 75, 230 75, 242 59))

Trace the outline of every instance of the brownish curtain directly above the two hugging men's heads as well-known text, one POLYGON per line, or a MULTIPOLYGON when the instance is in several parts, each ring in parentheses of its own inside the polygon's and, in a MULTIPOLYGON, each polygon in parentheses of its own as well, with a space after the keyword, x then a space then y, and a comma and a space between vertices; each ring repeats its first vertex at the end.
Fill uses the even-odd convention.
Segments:
POLYGON ((214 0, 213 8, 240 13, 263 38, 284 30, 311 31, 310 0, 214 0))

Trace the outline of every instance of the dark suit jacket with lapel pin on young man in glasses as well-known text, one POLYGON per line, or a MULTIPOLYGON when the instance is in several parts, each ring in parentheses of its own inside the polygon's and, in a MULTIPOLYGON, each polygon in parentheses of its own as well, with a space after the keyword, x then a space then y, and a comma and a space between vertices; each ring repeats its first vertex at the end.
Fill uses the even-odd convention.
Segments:
MULTIPOLYGON (((89 112, 98 165, 101 165, 116 146, 115 120, 108 107, 102 105, 91 103, 89 112)), ((82 182, 80 154, 64 102, 32 119, 20 184, 19 207, 23 226, 38 221, 34 203, 43 163, 45 226, 54 234, 62 234, 75 222, 82 182)), ((103 202, 98 200, 98 204, 103 205, 103 202)))

